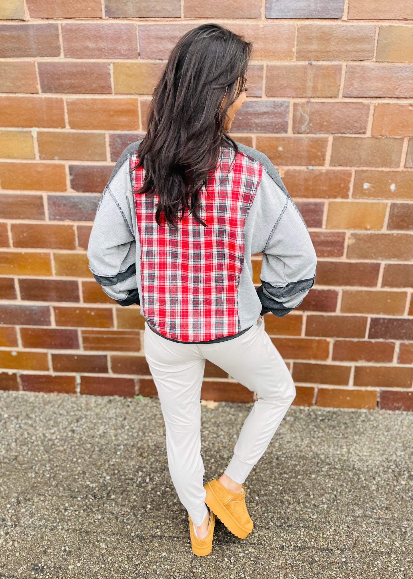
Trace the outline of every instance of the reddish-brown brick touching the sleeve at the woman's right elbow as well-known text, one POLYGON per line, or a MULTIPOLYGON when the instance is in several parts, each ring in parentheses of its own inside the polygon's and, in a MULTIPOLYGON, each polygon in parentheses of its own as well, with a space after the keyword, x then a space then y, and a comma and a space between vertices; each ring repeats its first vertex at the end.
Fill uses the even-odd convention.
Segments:
POLYGON ((316 269, 316 283, 318 285, 366 285, 376 287, 379 270, 379 263, 319 261, 316 269))

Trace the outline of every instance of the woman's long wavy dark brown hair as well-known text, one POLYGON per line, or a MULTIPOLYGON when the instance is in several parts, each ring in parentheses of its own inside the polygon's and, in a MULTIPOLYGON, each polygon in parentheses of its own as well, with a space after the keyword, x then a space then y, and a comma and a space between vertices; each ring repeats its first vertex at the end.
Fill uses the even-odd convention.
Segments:
POLYGON ((207 226, 197 213, 198 193, 215 171, 220 146, 226 142, 238 153, 224 124, 228 108, 245 90, 251 54, 250 42, 218 24, 193 28, 172 50, 153 92, 148 130, 134 167, 145 170, 136 194, 159 196, 158 225, 163 213, 165 222, 176 228, 178 212, 182 219, 188 208, 207 226))

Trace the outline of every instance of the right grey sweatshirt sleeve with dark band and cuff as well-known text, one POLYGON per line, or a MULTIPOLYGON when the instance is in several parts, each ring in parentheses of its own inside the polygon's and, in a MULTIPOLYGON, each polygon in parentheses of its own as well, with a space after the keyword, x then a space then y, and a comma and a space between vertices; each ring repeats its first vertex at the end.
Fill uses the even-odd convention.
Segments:
POLYGON ((261 315, 272 312, 282 317, 300 305, 314 285, 317 256, 294 201, 274 181, 272 187, 278 198, 282 193, 283 207, 263 249, 257 293, 261 315))

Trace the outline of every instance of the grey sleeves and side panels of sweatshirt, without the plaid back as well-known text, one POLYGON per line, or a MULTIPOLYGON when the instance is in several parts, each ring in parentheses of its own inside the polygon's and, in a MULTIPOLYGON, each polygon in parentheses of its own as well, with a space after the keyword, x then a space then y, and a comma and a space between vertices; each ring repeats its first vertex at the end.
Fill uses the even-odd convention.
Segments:
MULTIPOLYGON (((95 279, 120 305, 140 303, 141 245, 132 194, 130 144, 113 168, 92 228, 89 267, 95 279)), ((245 221, 245 259, 238 283, 240 333, 260 314, 285 316, 300 305, 315 283, 317 258, 304 219, 268 157, 241 143, 239 151, 263 167, 263 176, 245 221), (250 256, 263 252, 261 286, 253 284, 250 256)), ((145 312, 141 307, 141 314, 145 312)), ((231 336, 235 338, 239 334, 231 336)), ((228 336, 211 340, 220 342, 228 336)))

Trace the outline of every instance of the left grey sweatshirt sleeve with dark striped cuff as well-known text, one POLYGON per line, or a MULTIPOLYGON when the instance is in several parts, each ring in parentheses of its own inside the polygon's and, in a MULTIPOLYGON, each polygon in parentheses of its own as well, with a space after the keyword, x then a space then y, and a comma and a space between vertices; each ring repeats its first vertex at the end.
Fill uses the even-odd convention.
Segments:
POLYGON ((121 306, 140 303, 136 241, 127 190, 131 190, 128 159, 102 193, 87 249, 95 280, 121 306))

